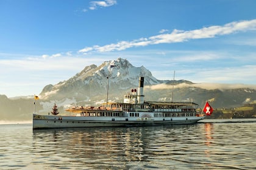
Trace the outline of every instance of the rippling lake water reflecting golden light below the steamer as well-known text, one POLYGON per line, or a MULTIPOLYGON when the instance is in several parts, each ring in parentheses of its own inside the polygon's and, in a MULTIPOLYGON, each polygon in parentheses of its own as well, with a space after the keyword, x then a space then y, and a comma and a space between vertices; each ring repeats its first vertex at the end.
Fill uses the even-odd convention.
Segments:
POLYGON ((0 169, 255 169, 256 119, 32 130, 0 125, 0 169))

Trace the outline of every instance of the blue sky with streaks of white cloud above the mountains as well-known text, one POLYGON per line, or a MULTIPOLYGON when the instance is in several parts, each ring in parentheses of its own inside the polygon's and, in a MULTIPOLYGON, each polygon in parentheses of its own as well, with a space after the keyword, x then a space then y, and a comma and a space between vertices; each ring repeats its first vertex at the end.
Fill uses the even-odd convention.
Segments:
POLYGON ((253 0, 0 0, 0 94, 127 59, 158 80, 256 84, 253 0))

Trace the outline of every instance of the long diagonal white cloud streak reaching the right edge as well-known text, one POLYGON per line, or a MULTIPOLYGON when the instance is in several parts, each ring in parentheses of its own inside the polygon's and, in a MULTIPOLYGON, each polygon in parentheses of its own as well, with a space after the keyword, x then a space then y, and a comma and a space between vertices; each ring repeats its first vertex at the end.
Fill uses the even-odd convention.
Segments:
POLYGON ((79 53, 88 52, 109 52, 114 50, 125 50, 132 47, 149 46, 151 44, 184 42, 190 39, 214 38, 218 35, 228 35, 236 32, 246 32, 247 30, 256 30, 256 19, 250 21, 230 22, 225 25, 213 25, 202 29, 183 31, 173 30, 172 33, 165 33, 149 38, 140 38, 133 41, 120 41, 116 44, 107 44, 105 46, 93 46, 81 49, 79 53))

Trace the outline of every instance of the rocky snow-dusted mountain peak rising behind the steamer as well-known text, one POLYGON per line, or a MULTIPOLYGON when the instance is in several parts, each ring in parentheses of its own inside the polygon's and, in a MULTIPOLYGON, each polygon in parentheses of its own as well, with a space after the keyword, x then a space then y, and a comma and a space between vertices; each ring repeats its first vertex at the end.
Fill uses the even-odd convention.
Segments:
POLYGON ((110 98, 114 97, 112 94, 118 93, 118 97, 122 97, 126 90, 138 87, 139 77, 144 77, 145 86, 163 83, 153 77, 144 66, 135 67, 129 61, 118 58, 105 61, 101 66, 87 66, 69 80, 45 86, 40 97, 44 100, 76 98, 78 101, 90 101, 101 97, 103 100, 107 93, 107 83, 110 98))

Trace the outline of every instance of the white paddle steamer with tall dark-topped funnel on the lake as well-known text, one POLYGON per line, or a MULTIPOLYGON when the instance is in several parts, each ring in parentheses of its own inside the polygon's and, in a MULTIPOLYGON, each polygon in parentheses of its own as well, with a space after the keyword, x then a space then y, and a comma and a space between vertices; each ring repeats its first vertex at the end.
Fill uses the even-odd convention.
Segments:
POLYGON ((100 106, 72 106, 66 109, 69 116, 57 115, 57 106, 52 115, 33 115, 33 129, 63 127, 104 126, 154 126, 159 124, 193 124, 204 119, 193 102, 144 101, 144 77, 140 77, 138 92, 131 90, 123 102, 102 103, 100 106))

